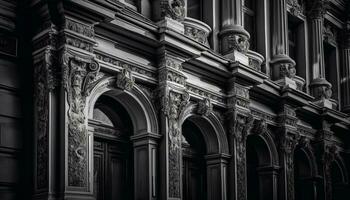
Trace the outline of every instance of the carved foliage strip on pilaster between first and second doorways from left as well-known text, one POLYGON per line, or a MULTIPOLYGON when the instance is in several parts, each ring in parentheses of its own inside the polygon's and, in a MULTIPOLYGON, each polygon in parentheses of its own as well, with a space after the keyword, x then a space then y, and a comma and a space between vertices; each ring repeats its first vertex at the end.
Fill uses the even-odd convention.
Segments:
POLYGON ((189 103, 190 96, 185 91, 166 91, 162 97, 162 111, 168 118, 169 137, 169 195, 180 197, 181 127, 179 115, 189 103))

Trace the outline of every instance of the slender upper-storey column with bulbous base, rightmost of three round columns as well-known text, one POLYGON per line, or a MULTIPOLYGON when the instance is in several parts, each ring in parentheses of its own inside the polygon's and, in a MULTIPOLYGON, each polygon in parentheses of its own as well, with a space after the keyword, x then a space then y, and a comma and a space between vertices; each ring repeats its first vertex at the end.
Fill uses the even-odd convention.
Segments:
POLYGON ((313 0, 309 2, 309 38, 312 66, 312 81, 310 89, 316 102, 324 107, 332 108, 329 99, 332 96, 332 85, 325 79, 325 63, 323 49, 323 20, 326 12, 327 0, 313 0))

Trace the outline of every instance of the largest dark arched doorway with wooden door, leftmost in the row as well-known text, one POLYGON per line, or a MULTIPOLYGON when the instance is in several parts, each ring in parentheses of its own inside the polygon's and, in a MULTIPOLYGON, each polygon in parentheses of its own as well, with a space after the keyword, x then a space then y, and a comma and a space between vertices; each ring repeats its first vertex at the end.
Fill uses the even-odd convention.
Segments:
POLYGON ((131 119, 115 99, 102 95, 89 127, 94 135, 94 195, 98 200, 133 199, 131 119))

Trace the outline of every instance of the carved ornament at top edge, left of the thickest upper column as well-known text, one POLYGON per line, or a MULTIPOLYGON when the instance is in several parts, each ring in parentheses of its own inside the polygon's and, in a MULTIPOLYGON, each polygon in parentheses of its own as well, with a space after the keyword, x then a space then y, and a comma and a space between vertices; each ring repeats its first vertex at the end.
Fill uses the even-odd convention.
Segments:
POLYGON ((183 21, 186 15, 184 0, 161 0, 161 12, 163 17, 169 17, 177 21, 183 21))

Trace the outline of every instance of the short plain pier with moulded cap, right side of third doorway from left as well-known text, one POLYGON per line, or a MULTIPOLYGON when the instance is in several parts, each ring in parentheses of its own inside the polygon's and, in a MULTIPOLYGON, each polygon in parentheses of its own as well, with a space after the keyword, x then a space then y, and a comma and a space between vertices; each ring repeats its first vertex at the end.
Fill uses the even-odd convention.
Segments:
POLYGON ((259 194, 261 200, 277 200, 278 199, 278 166, 259 167, 259 194))

